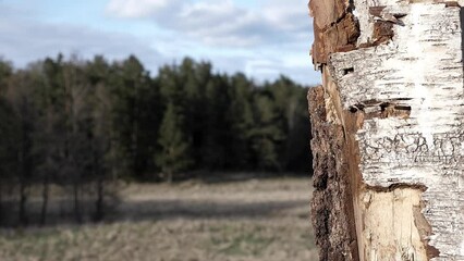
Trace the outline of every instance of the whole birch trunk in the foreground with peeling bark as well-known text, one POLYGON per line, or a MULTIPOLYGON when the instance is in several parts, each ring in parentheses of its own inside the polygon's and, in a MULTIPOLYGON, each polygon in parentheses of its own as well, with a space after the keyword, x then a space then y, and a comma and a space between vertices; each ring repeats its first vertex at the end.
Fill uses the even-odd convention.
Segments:
POLYGON ((464 260, 457 2, 312 0, 320 260, 464 260))

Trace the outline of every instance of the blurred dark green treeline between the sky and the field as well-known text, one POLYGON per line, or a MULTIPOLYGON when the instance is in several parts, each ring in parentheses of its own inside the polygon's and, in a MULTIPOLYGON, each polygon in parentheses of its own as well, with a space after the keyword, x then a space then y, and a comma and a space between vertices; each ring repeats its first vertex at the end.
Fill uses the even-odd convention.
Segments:
POLYGON ((25 70, 0 61, 0 224, 7 211, 17 223, 46 224, 58 188, 68 214, 83 222, 103 217, 111 182, 121 178, 307 173, 306 108, 306 88, 284 76, 257 85, 188 58, 156 76, 133 55, 60 54, 25 70))

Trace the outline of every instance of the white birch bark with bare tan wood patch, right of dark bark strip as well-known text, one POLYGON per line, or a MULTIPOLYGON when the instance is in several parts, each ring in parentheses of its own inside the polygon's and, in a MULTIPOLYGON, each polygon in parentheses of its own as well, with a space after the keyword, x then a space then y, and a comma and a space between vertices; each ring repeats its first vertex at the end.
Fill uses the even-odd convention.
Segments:
MULTIPOLYGON (((363 121, 352 134, 361 159, 353 198, 359 259, 428 260, 432 247, 432 260, 464 260, 462 9, 354 0, 353 14, 357 48, 330 54, 323 66, 338 90, 328 80, 323 87, 339 96, 328 95, 327 104, 338 101, 337 110, 363 121), (399 21, 391 40, 369 46, 379 20, 370 10, 379 7, 380 20, 399 21)), ((329 122, 345 125, 333 114, 329 122)))

